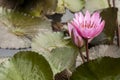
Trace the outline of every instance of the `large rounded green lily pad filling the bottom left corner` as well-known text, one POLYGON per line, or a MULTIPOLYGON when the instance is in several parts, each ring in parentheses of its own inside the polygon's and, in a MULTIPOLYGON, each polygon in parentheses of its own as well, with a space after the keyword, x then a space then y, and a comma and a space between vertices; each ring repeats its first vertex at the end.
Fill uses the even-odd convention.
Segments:
POLYGON ((43 56, 23 51, 0 65, 0 80, 53 80, 53 74, 43 56))

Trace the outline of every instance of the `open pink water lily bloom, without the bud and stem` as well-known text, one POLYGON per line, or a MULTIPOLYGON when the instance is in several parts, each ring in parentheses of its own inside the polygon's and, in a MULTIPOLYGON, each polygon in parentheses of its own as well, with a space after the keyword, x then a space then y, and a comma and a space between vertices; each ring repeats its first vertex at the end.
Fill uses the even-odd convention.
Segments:
POLYGON ((76 13, 73 21, 68 24, 68 28, 72 26, 84 39, 93 39, 102 32, 104 25, 105 21, 101 20, 98 12, 90 15, 86 11, 85 16, 81 12, 76 13))

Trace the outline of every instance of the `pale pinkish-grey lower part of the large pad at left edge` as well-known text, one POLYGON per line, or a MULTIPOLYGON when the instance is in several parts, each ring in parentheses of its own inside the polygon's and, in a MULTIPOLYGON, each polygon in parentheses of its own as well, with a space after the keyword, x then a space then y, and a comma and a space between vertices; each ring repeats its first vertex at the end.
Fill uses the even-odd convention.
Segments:
POLYGON ((28 48, 31 41, 25 36, 20 37, 9 32, 9 29, 0 23, 0 47, 9 49, 28 48))

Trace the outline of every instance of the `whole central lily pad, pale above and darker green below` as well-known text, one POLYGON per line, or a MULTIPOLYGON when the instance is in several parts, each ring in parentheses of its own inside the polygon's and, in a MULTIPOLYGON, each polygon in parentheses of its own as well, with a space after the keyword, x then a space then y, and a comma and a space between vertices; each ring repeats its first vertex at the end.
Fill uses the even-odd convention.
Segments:
POLYGON ((77 52, 68 43, 69 41, 64 40, 63 33, 47 31, 40 33, 33 40, 32 50, 42 54, 50 63, 53 73, 56 74, 64 69, 75 67, 77 52))

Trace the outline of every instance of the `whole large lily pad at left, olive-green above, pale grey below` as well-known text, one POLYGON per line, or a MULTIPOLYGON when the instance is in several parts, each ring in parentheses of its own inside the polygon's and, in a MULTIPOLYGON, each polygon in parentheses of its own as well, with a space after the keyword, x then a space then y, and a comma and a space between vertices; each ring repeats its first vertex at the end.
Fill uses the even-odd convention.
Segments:
POLYGON ((0 14, 0 47, 1 48, 27 48, 31 46, 32 39, 40 30, 51 29, 48 19, 31 17, 30 15, 2 11, 0 14))

